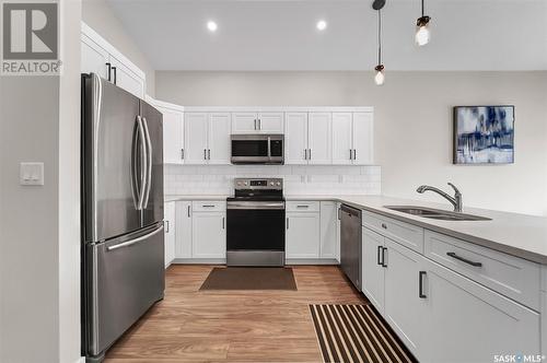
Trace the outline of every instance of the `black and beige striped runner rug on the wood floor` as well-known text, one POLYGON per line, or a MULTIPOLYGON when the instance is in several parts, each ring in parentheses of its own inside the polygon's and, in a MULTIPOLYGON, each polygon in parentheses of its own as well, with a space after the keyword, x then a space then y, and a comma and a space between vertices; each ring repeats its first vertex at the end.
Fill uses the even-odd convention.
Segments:
POLYGON ((370 305, 310 305, 326 363, 417 362, 370 305))

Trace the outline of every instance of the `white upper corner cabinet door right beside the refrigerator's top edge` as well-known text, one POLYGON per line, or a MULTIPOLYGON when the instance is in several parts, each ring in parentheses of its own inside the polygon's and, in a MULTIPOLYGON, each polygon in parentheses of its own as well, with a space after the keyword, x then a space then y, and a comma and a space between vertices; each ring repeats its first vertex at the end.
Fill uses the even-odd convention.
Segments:
POLYGON ((163 115, 163 162, 165 164, 184 163, 184 113, 158 107, 163 115))

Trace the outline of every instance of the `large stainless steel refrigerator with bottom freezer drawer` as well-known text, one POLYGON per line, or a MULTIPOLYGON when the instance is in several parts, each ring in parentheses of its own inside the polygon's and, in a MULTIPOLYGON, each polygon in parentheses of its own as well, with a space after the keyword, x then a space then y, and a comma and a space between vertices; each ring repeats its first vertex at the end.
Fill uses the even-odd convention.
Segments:
POLYGON ((82 74, 82 351, 108 349, 163 298, 162 115, 82 74))

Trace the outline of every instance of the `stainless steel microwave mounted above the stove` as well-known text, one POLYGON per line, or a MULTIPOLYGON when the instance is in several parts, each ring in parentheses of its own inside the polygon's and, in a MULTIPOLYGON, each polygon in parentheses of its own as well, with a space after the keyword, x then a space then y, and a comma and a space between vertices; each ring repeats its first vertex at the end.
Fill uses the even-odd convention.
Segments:
POLYGON ((284 136, 232 134, 232 164, 283 164, 284 136))

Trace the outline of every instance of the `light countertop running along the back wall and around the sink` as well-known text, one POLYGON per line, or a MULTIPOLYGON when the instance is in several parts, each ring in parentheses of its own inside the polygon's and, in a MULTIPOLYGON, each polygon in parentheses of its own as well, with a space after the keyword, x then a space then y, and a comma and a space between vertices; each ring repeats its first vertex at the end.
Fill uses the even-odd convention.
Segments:
MULTIPOLYGON (((166 196, 165 201, 214 200, 229 196, 166 196)), ((442 221, 411 215, 384 206, 420 206, 451 210, 449 203, 383 196, 284 196, 286 200, 336 200, 354 208, 380 213, 424 229, 443 233, 538 264, 547 265, 547 218, 465 208, 464 212, 490 218, 491 221, 442 221)))

